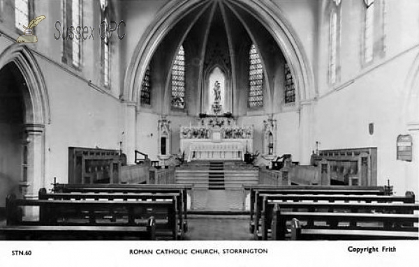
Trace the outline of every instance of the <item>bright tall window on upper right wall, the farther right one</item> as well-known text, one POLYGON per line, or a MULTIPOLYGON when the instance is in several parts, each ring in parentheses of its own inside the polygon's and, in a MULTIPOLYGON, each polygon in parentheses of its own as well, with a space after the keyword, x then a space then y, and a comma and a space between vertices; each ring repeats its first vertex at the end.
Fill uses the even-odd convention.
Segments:
POLYGON ((374 9, 375 0, 364 0, 365 3, 365 29, 364 29, 364 62, 368 63, 374 58, 374 9))

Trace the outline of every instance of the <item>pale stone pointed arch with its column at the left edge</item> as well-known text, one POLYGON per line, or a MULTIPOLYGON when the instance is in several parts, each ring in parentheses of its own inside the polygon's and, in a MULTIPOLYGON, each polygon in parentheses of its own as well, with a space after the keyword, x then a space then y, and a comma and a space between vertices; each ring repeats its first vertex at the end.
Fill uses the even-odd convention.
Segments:
POLYGON ((36 199, 38 190, 45 187, 45 125, 51 122, 50 102, 41 68, 25 45, 10 45, 0 54, 0 70, 9 63, 16 66, 25 82, 23 138, 27 158, 22 193, 27 199, 36 199))

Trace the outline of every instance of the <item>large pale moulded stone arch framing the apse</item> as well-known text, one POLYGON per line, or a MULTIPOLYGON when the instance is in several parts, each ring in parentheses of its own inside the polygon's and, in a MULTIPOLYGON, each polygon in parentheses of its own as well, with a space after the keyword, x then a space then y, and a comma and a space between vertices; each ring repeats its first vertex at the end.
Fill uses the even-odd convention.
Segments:
MULTIPOLYGON (((159 43, 166 33, 172 29, 172 25, 179 21, 186 13, 191 12, 197 6, 207 3, 208 0, 193 1, 170 1, 163 6, 156 19, 147 28, 146 33, 140 39, 124 79, 124 100, 139 102, 139 77, 143 77, 147 63, 152 58, 159 43)), ((295 88, 298 89, 299 101, 311 101, 316 95, 314 73, 309 65, 307 55, 302 49, 300 40, 296 38, 291 24, 286 20, 278 6, 269 0, 228 0, 249 13, 255 15, 258 20, 271 33, 274 40, 284 52, 286 61, 289 63, 291 73, 295 77, 295 88)))

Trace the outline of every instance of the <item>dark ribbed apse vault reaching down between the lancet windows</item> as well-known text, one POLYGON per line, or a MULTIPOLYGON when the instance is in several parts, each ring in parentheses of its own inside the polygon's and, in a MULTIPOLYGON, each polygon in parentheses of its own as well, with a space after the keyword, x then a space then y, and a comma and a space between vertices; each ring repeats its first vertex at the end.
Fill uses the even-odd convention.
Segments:
MULTIPOLYGON (((161 88, 166 90, 165 99, 170 96, 167 89, 173 59, 183 45, 189 76, 186 77, 189 102, 200 101, 205 88, 205 73, 219 66, 229 77, 235 95, 234 109, 244 112, 247 109, 245 99, 252 44, 256 45, 264 68, 265 99, 273 98, 273 89, 278 84, 276 79, 281 76, 278 72, 284 71, 285 59, 279 45, 259 19, 239 6, 237 1, 230 0, 198 1, 196 6, 185 10, 184 15, 171 25, 152 59, 154 71, 158 70, 154 77, 165 81, 161 84, 161 88)), ((200 108, 198 104, 189 105, 189 112, 200 112, 200 108)))

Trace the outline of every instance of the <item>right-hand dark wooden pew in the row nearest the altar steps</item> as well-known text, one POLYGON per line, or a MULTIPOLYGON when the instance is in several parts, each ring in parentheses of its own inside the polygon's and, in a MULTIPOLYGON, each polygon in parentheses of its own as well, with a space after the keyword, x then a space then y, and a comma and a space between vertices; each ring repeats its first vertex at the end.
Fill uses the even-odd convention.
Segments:
POLYGON ((249 191, 250 195, 249 230, 251 233, 254 233, 255 230, 254 222, 257 222, 260 218, 260 211, 262 208, 261 198, 259 197, 260 194, 385 194, 385 189, 381 186, 362 187, 344 185, 244 185, 243 188, 245 191, 249 191))

